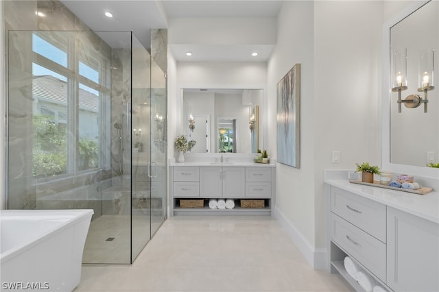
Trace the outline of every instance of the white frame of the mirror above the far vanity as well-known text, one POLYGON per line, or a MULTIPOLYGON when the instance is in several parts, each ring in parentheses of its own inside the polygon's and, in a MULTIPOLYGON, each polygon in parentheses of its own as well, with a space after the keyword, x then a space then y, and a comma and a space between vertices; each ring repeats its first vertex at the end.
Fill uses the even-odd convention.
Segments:
MULTIPOLYGON (((252 89, 252 90, 263 90, 263 104, 259 105, 259 133, 263 134, 262 145, 259 145, 260 149, 267 149, 268 147, 268 87, 267 84, 178 84, 177 86, 177 102, 176 102, 176 121, 181 121, 182 119, 182 105, 183 105, 183 90, 187 88, 206 88, 206 89, 252 89), (262 117, 262 118, 261 118, 262 117), (263 148, 265 147, 265 148, 263 148)), ((212 120, 212 119, 211 119, 212 120)), ((180 134, 182 132, 182 126, 177 123, 176 133, 180 134)), ((212 147, 212 145, 211 145, 212 147)), ((215 152, 209 152, 215 154, 215 152)), ((239 153, 232 153, 239 154, 239 153)))

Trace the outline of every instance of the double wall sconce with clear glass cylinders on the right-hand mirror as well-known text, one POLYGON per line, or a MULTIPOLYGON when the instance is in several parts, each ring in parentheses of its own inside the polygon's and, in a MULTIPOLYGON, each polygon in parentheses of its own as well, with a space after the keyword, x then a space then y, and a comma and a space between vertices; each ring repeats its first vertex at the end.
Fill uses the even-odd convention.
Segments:
POLYGON ((392 53, 392 92, 398 93, 398 112, 401 112, 401 104, 406 108, 417 108, 424 104, 424 112, 427 112, 427 91, 434 89, 434 49, 420 53, 418 66, 418 92, 424 93, 424 98, 420 95, 408 95, 401 99, 401 91, 407 90, 407 49, 401 49, 392 53))

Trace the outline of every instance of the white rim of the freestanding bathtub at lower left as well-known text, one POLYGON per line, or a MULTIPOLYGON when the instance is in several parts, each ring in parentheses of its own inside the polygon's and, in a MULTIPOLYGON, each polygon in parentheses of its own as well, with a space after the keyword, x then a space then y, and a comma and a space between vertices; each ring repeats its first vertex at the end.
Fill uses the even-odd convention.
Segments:
POLYGON ((71 217, 71 219, 68 219, 64 223, 62 223, 60 226, 56 226, 54 228, 51 228, 50 230, 47 230, 44 232, 44 234, 38 239, 34 239, 32 241, 26 241, 25 243, 21 245, 17 245, 16 247, 10 248, 10 250, 7 250, 0 254, 0 265, 3 265, 4 263, 8 262, 8 260, 11 260, 16 256, 17 254, 20 254, 22 252, 25 252, 26 250, 29 250, 30 248, 34 247, 34 245, 38 245, 39 243, 42 243, 43 241, 46 241, 47 239, 56 236, 56 234, 62 232, 63 230, 66 230, 67 228, 70 228, 73 224, 78 223, 79 221, 84 220, 91 220, 91 216, 93 215, 93 209, 68 209, 68 210, 0 210, 0 217, 3 215, 3 212, 10 213, 14 215, 14 213, 25 216, 27 213, 28 215, 34 215, 37 212, 40 213, 49 213, 51 215, 56 216, 58 215, 66 215, 66 212, 74 213, 75 216, 71 217))

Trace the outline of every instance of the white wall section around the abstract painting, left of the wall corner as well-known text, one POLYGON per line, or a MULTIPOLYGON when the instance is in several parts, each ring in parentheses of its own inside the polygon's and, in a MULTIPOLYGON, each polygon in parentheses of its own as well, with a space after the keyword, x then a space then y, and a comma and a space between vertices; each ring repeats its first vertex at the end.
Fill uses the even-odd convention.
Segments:
MULTIPOLYGON (((277 164, 277 217, 286 221, 305 249, 315 245, 313 2, 285 1, 278 16, 276 49, 268 62, 268 128, 276 129, 276 84, 300 63, 300 169, 277 164)), ((276 156, 276 131, 268 133, 276 156)), ((296 241, 297 243, 297 241, 296 241)), ((300 247, 299 247, 300 248, 300 247)), ((302 248, 300 250, 305 252, 302 248)))

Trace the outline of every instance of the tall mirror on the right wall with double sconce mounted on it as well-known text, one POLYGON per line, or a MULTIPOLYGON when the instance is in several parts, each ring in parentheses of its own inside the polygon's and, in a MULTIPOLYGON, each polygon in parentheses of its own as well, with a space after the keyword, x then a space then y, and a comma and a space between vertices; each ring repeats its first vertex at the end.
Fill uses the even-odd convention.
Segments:
POLYGON ((422 69, 425 52, 429 66, 438 68, 439 2, 429 1, 390 27, 390 162, 399 165, 425 167, 439 162, 439 86, 438 77, 429 70, 428 102, 419 106, 405 99, 420 97, 426 69, 422 69), (402 69, 401 69, 402 68, 402 69), (422 72, 421 72, 422 71, 422 72), (431 76, 432 75, 432 76, 431 76), (398 80, 399 81, 396 81, 398 80), (394 87, 401 90, 401 112, 394 87), (436 87, 436 88, 435 88, 436 87), (427 104, 428 110, 425 112, 427 104))

